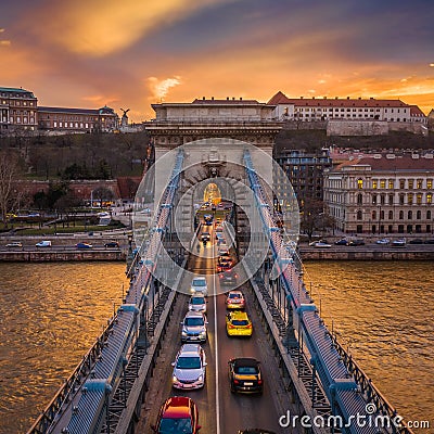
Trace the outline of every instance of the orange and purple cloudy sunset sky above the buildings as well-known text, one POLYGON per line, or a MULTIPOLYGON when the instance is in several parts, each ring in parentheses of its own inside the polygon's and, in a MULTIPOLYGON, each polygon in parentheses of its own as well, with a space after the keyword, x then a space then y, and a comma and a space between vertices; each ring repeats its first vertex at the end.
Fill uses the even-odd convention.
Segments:
POLYGON ((401 99, 434 107, 433 0, 1 0, 0 87, 130 120, 154 102, 401 99))

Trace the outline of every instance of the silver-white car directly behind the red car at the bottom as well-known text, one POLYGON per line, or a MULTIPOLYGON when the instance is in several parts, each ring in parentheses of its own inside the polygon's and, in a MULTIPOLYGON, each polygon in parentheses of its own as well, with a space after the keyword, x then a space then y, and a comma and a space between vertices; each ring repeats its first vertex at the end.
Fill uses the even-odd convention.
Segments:
POLYGON ((205 385, 206 357, 201 345, 182 345, 171 366, 171 383, 175 388, 201 388, 205 385))

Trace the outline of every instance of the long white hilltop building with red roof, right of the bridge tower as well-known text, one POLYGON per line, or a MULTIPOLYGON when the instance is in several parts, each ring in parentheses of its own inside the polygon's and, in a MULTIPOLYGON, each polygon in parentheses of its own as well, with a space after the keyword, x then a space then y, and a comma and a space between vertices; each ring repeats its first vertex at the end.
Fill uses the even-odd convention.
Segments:
POLYGON ((352 98, 288 98, 279 91, 268 104, 276 105, 273 118, 279 120, 386 120, 388 123, 422 123, 426 116, 416 105, 400 100, 352 98))

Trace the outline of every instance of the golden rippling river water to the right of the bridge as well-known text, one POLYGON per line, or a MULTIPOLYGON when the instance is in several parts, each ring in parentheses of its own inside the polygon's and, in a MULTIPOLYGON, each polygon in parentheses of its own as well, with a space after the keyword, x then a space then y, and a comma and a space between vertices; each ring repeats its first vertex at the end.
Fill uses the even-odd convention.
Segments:
POLYGON ((305 267, 321 316, 329 327, 333 322, 398 413, 434 425, 433 265, 311 261, 305 267))

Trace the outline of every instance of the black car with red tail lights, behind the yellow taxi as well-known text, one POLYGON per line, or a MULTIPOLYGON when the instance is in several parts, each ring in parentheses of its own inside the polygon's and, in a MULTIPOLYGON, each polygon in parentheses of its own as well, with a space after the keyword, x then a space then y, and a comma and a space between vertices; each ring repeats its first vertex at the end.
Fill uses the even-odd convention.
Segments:
POLYGON ((258 393, 264 390, 259 361, 253 357, 230 359, 229 382, 232 393, 258 393))

